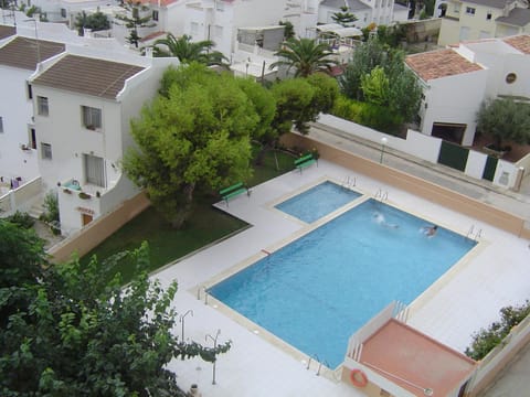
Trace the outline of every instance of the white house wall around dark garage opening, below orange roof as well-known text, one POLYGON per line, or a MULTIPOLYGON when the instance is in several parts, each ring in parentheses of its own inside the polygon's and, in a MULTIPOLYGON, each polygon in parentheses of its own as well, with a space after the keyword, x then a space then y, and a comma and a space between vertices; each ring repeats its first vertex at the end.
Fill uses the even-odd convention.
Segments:
POLYGON ((487 78, 487 71, 483 69, 428 81, 430 87, 424 90, 427 108, 422 132, 431 135, 434 122, 465 124, 462 144, 473 144, 476 114, 485 96, 487 78))

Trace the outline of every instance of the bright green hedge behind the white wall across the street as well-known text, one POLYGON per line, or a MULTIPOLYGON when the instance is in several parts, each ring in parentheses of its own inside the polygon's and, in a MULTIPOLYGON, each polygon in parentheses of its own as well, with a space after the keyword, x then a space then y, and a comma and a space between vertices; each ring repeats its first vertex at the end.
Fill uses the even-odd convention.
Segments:
POLYGON ((403 118, 389 111, 388 107, 349 99, 344 96, 337 98, 331 112, 337 117, 392 135, 395 135, 403 124, 403 118))

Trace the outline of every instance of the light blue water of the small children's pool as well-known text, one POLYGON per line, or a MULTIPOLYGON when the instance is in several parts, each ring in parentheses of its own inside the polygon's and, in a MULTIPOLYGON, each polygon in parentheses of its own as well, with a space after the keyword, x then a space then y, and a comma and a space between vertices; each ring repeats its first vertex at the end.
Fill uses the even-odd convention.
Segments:
POLYGON ((358 192, 326 181, 303 194, 298 194, 276 205, 276 208, 306 223, 312 223, 350 203, 360 195, 358 192))

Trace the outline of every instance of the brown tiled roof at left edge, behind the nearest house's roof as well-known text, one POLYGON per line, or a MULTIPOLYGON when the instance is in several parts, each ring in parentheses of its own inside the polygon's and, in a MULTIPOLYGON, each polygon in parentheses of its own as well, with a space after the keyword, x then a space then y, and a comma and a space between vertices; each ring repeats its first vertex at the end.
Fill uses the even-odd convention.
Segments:
POLYGON ((38 57, 42 62, 62 52, 64 44, 18 36, 0 47, 0 65, 34 71, 38 57))

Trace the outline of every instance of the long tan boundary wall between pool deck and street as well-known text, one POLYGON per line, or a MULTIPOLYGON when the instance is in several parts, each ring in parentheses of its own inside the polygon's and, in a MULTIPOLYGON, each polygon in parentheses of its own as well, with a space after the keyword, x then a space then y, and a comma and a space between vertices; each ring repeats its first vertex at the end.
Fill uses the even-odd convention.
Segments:
POLYGON ((453 211, 486 222, 518 237, 530 238, 524 221, 513 214, 498 210, 477 200, 442 187, 435 183, 394 170, 384 164, 363 159, 339 148, 297 133, 287 133, 282 142, 288 147, 316 148, 320 155, 333 163, 380 180, 389 185, 413 193, 453 211))

